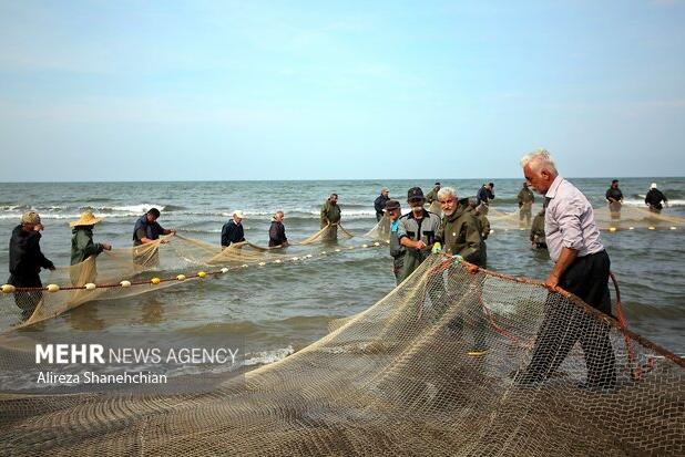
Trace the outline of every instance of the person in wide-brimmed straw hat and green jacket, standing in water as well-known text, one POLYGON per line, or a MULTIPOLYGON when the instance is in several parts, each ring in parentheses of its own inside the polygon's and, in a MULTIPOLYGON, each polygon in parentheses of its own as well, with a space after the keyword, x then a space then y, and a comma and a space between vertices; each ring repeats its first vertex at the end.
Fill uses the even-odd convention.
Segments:
POLYGON ((92 211, 83 211, 79 220, 69 222, 72 227, 71 232, 71 268, 69 274, 74 287, 81 287, 89 282, 94 282, 96 277, 95 263, 92 266, 80 264, 89 257, 99 256, 102 251, 111 251, 112 245, 106 242, 93 242, 93 227, 102 218, 98 218, 92 211))

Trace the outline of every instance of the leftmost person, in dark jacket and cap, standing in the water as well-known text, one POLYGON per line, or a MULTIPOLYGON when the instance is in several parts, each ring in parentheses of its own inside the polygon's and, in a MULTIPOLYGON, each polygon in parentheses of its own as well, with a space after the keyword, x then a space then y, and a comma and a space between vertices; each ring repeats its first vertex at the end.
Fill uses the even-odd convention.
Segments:
MULTIPOLYGON (((21 224, 12 230, 10 238, 10 278, 8 284, 17 288, 42 288, 40 280, 41 268, 54 270, 54 264, 40 250, 40 231, 44 227, 35 211, 24 212, 21 224)), ((42 291, 16 292, 14 303, 22 310, 22 319, 33 314, 41 301, 42 291)))

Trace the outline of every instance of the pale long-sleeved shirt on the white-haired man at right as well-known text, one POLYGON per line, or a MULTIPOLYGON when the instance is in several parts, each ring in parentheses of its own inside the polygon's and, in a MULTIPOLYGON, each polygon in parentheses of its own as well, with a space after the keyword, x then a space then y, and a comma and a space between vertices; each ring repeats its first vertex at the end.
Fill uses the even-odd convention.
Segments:
POLYGON ((576 250, 577 257, 604 250, 592 205, 574 185, 556 176, 545 200, 544 235, 552 261, 562 248, 576 250))

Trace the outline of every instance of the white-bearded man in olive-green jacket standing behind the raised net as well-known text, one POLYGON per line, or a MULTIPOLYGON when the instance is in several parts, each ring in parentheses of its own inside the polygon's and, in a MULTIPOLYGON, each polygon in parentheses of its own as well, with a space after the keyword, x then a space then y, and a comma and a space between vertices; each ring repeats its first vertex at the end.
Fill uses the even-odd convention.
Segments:
MULTIPOLYGON (((469 205, 469 200, 458 200, 457 190, 451 187, 441 188, 438 193, 438 198, 444 216, 436 236, 433 250, 437 250, 436 247, 438 247, 438 243, 441 243, 443 252, 451 256, 460 256, 469 263, 485 268, 488 255, 485 242, 481 235, 482 227, 473 208, 469 205)), ((442 277, 440 276, 439 280, 441 279, 442 277)), ((432 289, 440 289, 442 287, 441 283, 437 285, 433 285, 432 289)), ((448 281, 448 295, 451 298, 464 297, 466 290, 463 288, 469 287, 471 287, 470 281, 448 281)), ((471 356, 484 355, 488 352, 485 345, 488 325, 482 307, 467 301, 464 305, 459 308, 454 319, 450 321, 449 328, 461 332, 464 321, 469 322, 473 334, 473 344, 467 354, 471 356)))

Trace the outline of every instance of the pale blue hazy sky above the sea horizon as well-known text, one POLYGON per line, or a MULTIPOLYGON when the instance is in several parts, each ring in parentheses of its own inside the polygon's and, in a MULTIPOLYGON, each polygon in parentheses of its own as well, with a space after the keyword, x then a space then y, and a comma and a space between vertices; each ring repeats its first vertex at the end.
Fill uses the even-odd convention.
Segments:
POLYGON ((685 176, 685 1, 0 0, 0 181, 685 176))

